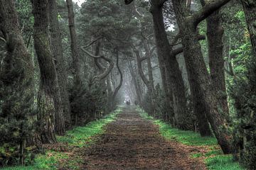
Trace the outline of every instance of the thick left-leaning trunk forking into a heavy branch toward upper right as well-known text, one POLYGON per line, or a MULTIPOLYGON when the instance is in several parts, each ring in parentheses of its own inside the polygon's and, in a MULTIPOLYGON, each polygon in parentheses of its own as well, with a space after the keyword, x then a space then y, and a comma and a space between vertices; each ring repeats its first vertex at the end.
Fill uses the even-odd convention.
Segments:
POLYGON ((212 1, 202 8, 201 11, 194 13, 192 16, 186 9, 186 4, 181 1, 173 1, 174 11, 178 28, 181 31, 181 40, 183 53, 188 69, 188 79, 191 86, 191 94, 201 94, 204 105, 208 109, 207 116, 218 144, 225 154, 233 152, 231 147, 232 136, 228 130, 228 122, 223 117, 223 111, 218 103, 218 97, 215 94, 215 87, 211 84, 210 75, 206 69, 203 60, 201 45, 197 38, 198 23, 207 18, 214 11, 218 10, 228 1, 212 1))

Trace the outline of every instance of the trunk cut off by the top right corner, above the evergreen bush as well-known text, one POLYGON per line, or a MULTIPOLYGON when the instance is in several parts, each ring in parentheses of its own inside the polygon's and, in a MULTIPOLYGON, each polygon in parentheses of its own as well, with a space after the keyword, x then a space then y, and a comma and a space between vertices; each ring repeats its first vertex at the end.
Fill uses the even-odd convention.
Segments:
POLYGON ((243 10, 245 11, 245 18, 247 28, 250 33, 250 40, 252 42, 252 51, 256 57, 256 1, 242 0, 243 10))

